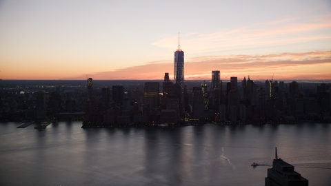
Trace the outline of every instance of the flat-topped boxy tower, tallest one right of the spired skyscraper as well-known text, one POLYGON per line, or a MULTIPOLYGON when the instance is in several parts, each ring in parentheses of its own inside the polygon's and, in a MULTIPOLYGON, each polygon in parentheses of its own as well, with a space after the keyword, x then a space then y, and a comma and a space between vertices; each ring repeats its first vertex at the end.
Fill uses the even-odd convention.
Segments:
POLYGON ((219 111, 221 104, 221 79, 219 70, 212 71, 212 105, 214 110, 219 111))

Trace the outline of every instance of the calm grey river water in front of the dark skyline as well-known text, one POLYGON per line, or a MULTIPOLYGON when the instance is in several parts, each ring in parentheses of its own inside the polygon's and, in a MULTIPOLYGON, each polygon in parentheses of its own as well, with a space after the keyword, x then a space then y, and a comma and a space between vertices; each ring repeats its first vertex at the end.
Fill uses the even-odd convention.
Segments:
POLYGON ((19 125, 0 123, 0 185, 264 185, 275 146, 310 185, 331 185, 331 124, 19 125))

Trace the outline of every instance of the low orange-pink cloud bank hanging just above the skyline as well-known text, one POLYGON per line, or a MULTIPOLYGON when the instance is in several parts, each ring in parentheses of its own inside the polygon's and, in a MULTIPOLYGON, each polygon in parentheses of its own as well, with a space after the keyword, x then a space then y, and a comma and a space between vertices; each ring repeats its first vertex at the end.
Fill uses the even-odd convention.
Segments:
MULTIPOLYGON (((331 79, 331 50, 267 55, 200 56, 185 59, 185 79, 210 79, 212 70, 221 79, 250 75, 254 79, 331 79)), ((89 74, 93 79, 163 79, 173 76, 173 62, 156 61, 146 65, 89 74)), ((85 74, 67 79, 85 79, 85 74)))

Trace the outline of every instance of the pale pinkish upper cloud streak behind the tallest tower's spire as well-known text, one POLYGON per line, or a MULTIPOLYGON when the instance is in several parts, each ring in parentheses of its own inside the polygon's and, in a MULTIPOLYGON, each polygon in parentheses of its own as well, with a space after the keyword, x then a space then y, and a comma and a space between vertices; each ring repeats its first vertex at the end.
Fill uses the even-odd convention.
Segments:
MULTIPOLYGON (((290 17, 218 32, 194 33, 194 36, 184 34, 181 37, 181 46, 185 46, 183 50, 190 51, 191 56, 197 56, 206 52, 233 53, 331 39, 330 15, 312 17, 307 21, 303 19, 307 18, 290 17)), ((173 49, 177 39, 177 36, 163 37, 152 45, 173 49)), ((328 46, 331 47, 330 44, 328 46)))

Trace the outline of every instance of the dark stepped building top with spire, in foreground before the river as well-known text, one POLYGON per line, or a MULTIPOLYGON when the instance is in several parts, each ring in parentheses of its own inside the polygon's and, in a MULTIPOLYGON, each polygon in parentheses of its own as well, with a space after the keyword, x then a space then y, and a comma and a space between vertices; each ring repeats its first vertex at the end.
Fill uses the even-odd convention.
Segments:
POLYGON ((277 156, 272 161, 272 168, 268 169, 268 177, 265 178, 265 186, 307 186, 308 180, 294 171, 294 166, 286 163, 277 156))

